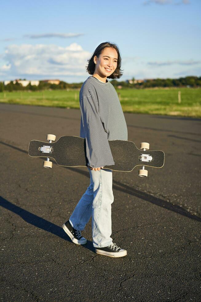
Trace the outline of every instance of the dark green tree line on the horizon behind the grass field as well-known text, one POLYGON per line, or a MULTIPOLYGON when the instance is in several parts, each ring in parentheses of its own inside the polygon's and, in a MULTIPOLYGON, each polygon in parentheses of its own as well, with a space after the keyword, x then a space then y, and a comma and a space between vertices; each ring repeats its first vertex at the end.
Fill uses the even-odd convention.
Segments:
MULTIPOLYGON (((197 76, 186 76, 179 79, 146 79, 143 80, 143 82, 138 83, 135 81, 135 78, 132 78, 132 83, 129 83, 129 81, 118 81, 118 80, 110 80, 112 85, 116 88, 118 86, 121 86, 122 88, 136 88, 136 89, 142 89, 142 88, 154 88, 154 87, 189 87, 189 88, 198 88, 201 87, 201 77, 197 76)), ((81 83, 66 83, 64 81, 60 81, 60 83, 57 84, 50 84, 44 81, 39 81, 39 85, 31 85, 30 83, 23 87, 21 83, 16 82, 15 84, 13 81, 11 81, 9 84, 4 85, 4 82, 0 82, 0 92, 3 91, 41 91, 41 90, 48 90, 48 89, 80 89, 83 82, 81 83)), ((120 88, 120 87, 119 87, 120 88)))

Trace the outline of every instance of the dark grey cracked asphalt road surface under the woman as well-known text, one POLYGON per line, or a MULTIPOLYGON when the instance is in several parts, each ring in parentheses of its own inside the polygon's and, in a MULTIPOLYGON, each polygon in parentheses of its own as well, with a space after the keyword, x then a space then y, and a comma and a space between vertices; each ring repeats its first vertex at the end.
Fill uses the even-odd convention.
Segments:
POLYGON ((163 150, 148 177, 113 171, 112 239, 127 256, 94 253, 62 224, 89 186, 85 167, 42 167, 29 142, 79 136, 80 111, 0 104, 2 301, 200 301, 201 120, 125 113, 128 140, 163 150))

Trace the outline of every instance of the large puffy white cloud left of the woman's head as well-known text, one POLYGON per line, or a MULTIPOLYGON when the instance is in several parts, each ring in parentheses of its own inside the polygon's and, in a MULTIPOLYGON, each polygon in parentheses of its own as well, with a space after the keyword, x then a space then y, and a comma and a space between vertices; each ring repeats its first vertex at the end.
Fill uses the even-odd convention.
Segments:
POLYGON ((0 67, 0 73, 18 76, 83 76, 86 75, 85 66, 90 56, 91 53, 77 43, 67 47, 13 44, 6 47, 2 55, 7 64, 0 67))

